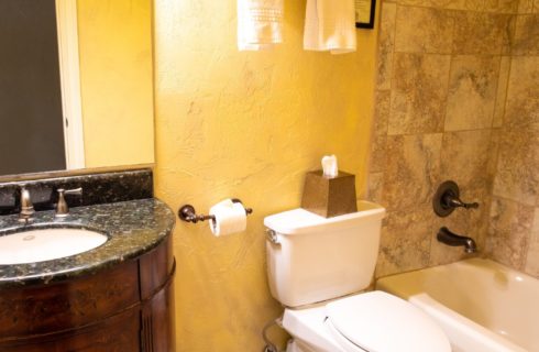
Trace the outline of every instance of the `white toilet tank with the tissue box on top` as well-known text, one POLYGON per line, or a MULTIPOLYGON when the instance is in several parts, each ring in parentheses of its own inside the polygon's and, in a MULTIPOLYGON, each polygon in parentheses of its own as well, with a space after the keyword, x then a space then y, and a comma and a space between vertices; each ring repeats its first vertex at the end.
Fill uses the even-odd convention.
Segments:
POLYGON ((266 217, 272 296, 287 307, 366 288, 376 265, 385 209, 358 202, 358 212, 323 218, 305 209, 266 217))

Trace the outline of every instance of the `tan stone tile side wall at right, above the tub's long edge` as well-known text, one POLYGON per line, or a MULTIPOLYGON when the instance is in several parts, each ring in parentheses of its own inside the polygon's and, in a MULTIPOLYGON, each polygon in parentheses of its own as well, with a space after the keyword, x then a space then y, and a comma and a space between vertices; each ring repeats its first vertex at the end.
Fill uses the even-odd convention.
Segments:
POLYGON ((487 253, 539 277, 539 1, 521 0, 509 57, 487 253))

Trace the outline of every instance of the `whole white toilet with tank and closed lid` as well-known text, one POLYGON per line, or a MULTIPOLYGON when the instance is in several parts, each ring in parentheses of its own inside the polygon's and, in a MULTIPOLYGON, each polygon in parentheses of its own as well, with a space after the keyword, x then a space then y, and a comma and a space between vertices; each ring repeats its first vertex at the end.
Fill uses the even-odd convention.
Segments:
POLYGON ((267 271, 285 307, 287 352, 449 352, 448 338, 418 308, 383 292, 373 277, 385 209, 322 218, 294 209, 264 219, 267 271))

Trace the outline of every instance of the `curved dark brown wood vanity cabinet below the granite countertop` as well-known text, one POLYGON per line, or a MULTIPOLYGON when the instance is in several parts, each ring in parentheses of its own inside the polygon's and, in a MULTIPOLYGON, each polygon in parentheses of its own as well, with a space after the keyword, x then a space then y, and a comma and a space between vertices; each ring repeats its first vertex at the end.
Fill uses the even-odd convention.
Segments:
POLYGON ((174 351, 172 238, 73 279, 0 290, 0 351, 174 351))

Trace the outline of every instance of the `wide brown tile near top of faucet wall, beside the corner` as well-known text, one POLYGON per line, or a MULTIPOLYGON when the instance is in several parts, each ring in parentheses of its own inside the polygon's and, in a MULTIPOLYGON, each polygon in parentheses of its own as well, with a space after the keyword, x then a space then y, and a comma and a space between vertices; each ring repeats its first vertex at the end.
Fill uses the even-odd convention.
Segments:
POLYGON ((510 48, 513 15, 481 12, 455 14, 453 54, 501 55, 510 48))

